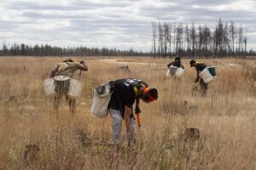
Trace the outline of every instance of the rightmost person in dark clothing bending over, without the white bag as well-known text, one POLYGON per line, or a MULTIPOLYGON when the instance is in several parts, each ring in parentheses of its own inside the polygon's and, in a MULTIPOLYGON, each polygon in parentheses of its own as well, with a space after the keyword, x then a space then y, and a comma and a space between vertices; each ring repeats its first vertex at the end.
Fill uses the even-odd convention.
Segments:
POLYGON ((207 83, 203 81, 203 79, 201 79, 200 77, 200 72, 203 71, 207 65, 205 65, 204 63, 201 62, 196 62, 195 59, 190 60, 189 62, 190 67, 195 67, 195 70, 197 72, 196 74, 196 78, 195 78, 195 83, 199 82, 201 90, 202 90, 202 94, 206 95, 207 94, 207 83))

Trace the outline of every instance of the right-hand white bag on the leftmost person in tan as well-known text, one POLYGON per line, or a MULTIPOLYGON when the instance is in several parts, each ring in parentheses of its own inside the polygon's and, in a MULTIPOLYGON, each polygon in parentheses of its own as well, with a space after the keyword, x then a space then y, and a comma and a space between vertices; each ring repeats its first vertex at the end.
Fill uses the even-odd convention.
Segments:
POLYGON ((83 82, 79 80, 70 79, 69 90, 67 95, 71 98, 77 98, 81 95, 83 89, 83 82))

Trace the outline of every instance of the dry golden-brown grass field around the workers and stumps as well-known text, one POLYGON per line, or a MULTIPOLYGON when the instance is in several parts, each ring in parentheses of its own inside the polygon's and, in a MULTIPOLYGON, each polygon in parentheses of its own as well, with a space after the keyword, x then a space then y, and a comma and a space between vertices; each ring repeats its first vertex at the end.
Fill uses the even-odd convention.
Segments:
POLYGON ((77 77, 84 82, 77 113, 72 116, 63 99, 57 117, 43 82, 63 59, 0 58, 0 169, 256 169, 255 59, 201 59, 219 66, 218 78, 201 97, 192 92, 195 68, 189 59, 182 60, 184 76, 174 79, 166 77, 171 59, 83 57, 89 71, 77 77), (228 68, 213 60, 241 66, 228 68), (119 69, 118 61, 128 61, 130 71, 119 69), (90 105, 97 84, 124 77, 158 88, 159 99, 141 103, 137 143, 127 147, 124 125, 118 151, 109 144, 110 116, 92 116, 90 105), (184 140, 187 127, 198 128, 200 139, 184 140), (27 144, 39 147, 28 162, 27 144))

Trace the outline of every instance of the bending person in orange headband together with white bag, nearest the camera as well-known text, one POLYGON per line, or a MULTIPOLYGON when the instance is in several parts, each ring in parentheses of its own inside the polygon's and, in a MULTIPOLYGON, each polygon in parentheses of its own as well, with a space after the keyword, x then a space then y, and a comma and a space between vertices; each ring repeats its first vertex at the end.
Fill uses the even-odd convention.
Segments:
POLYGON ((108 111, 112 118, 112 138, 113 144, 119 147, 121 137, 122 120, 125 121, 128 145, 135 142, 136 120, 133 115, 132 105, 136 103, 135 114, 137 116, 138 127, 141 126, 139 114, 140 99, 150 103, 158 98, 156 88, 148 87, 146 82, 137 79, 119 79, 112 82, 104 82, 97 86, 94 91, 91 113, 102 118, 108 116, 108 111))

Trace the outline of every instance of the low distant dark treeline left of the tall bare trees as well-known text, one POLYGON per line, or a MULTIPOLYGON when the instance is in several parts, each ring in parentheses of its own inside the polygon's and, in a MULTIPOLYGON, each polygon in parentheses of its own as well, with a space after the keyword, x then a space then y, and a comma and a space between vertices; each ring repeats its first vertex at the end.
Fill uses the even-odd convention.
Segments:
POLYGON ((3 43, 3 49, 0 50, 2 56, 140 56, 144 55, 142 51, 134 50, 119 50, 116 48, 59 48, 50 45, 35 45, 28 46, 24 43, 13 44, 10 48, 3 43))

